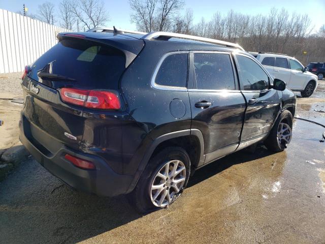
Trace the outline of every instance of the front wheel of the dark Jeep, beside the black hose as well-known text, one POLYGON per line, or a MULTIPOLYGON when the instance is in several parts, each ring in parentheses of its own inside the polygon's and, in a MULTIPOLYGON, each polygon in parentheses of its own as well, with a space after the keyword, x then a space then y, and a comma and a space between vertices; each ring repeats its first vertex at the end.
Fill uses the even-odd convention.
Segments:
POLYGON ((283 151, 292 138, 293 115, 284 110, 277 118, 270 135, 264 141, 265 146, 276 153, 283 151))

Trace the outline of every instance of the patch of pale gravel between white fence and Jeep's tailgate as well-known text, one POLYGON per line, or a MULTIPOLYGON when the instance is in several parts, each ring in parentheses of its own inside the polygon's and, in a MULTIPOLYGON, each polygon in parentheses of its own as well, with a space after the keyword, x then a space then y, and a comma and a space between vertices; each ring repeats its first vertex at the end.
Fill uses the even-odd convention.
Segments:
POLYGON ((21 72, 0 74, 0 93, 11 93, 22 96, 21 72))

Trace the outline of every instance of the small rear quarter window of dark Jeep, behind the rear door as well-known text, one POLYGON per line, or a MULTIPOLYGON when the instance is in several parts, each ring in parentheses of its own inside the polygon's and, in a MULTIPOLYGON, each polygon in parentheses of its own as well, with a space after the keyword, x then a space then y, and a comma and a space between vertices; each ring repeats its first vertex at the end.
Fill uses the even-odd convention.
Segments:
POLYGON ((171 54, 160 65, 155 83, 164 86, 186 87, 187 67, 187 53, 171 54))

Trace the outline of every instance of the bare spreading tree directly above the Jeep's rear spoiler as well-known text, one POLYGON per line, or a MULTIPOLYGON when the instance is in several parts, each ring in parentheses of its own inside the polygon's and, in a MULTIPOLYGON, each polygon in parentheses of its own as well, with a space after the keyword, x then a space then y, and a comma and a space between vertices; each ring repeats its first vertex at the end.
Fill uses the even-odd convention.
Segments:
POLYGON ((109 21, 109 14, 106 12, 103 1, 79 0, 71 5, 71 11, 87 29, 105 25, 109 21))

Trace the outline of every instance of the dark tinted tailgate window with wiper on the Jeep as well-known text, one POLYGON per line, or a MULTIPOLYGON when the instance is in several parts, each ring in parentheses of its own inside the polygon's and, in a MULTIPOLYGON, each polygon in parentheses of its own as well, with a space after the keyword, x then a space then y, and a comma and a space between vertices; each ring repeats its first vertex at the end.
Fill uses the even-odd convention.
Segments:
POLYGON ((64 39, 35 62, 29 76, 53 88, 117 89, 124 70, 122 51, 88 40, 64 39))

